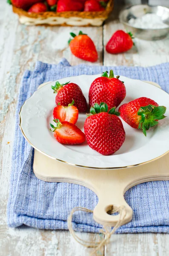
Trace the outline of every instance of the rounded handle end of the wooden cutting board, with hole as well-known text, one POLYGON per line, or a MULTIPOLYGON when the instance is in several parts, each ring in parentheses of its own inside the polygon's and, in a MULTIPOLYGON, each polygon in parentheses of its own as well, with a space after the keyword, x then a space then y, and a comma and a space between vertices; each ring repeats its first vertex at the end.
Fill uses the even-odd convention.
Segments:
POLYGON ((100 194, 98 204, 93 211, 93 218, 102 225, 114 227, 119 220, 121 220, 120 225, 131 221, 132 213, 132 208, 124 199, 123 191, 119 194, 119 191, 117 192, 115 189, 111 189, 111 191, 105 189, 102 190, 102 193, 100 194), (116 209, 122 210, 121 218, 119 214, 120 212, 111 215, 111 212, 116 209))

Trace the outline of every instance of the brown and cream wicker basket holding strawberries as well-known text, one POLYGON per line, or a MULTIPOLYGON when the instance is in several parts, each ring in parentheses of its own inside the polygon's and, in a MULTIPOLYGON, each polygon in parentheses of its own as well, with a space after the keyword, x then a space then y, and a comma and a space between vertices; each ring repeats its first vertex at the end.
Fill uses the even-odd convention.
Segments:
POLYGON ((41 12, 29 13, 13 6, 19 21, 28 26, 101 26, 112 12, 114 0, 109 0, 105 11, 101 12, 41 12))

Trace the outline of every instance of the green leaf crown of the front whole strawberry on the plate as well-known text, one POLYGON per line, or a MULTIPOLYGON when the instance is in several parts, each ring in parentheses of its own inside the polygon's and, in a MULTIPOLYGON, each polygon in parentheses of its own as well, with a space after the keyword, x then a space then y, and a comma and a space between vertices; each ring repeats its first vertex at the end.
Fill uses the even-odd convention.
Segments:
MULTIPOLYGON (((116 107, 113 107, 108 112, 108 105, 104 102, 101 102, 100 105, 98 103, 95 103, 95 105, 90 108, 90 113, 92 115, 95 115, 95 114, 98 114, 101 112, 106 112, 106 113, 108 112, 109 114, 120 116, 120 112, 116 112, 115 110, 116 110, 116 107)), ((89 115, 87 115, 87 116, 89 116, 89 115)))

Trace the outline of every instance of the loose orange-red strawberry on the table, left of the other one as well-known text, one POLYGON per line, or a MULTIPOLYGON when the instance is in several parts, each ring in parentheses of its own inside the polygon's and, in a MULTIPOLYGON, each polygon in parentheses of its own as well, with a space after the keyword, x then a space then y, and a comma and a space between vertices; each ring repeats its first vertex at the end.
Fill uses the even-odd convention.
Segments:
POLYGON ((97 61, 98 55, 95 44, 88 35, 83 34, 82 31, 79 32, 79 35, 75 35, 74 33, 70 33, 70 35, 73 37, 73 39, 69 40, 70 49, 73 55, 85 61, 97 61))

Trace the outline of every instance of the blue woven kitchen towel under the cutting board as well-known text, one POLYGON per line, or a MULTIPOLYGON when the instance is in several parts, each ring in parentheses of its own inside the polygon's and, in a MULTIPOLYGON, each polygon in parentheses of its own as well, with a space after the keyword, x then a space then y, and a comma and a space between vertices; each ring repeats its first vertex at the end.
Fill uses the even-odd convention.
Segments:
MULTIPOLYGON (((154 67, 103 67, 80 64, 71 67, 66 59, 58 65, 37 62, 33 72, 23 75, 16 109, 15 136, 11 163, 11 183, 7 207, 10 227, 26 224, 41 229, 67 229, 67 217, 72 208, 94 209, 97 196, 90 189, 70 183, 50 183, 39 180, 33 173, 34 150, 19 128, 21 106, 38 85, 68 76, 99 74, 112 68, 115 74, 160 84, 169 93, 169 63, 154 67)), ((169 233, 169 181, 143 183, 129 189, 125 198, 133 209, 132 221, 117 233, 169 233)), ((73 217, 75 230, 99 232, 100 225, 92 215, 77 212, 73 217)))

